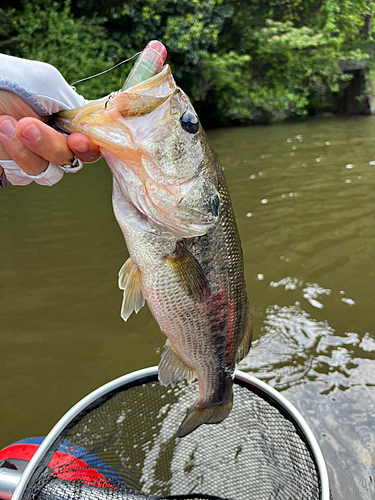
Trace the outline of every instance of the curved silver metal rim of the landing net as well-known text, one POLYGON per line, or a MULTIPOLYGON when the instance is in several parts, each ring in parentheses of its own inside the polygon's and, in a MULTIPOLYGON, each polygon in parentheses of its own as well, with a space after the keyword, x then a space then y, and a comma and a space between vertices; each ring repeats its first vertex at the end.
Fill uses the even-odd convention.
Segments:
MULTIPOLYGON (((18 483, 14 494, 12 496, 12 500, 21 500, 22 496, 25 492, 26 486, 30 481, 34 471, 37 466, 41 462, 45 453, 49 450, 50 446, 53 444, 55 439, 60 435, 60 433, 66 428, 66 426, 75 419, 83 410, 85 410, 92 403, 97 401, 99 398, 102 398, 106 394, 124 385, 129 385, 139 380, 144 380, 147 378, 155 380, 157 379, 158 367, 152 366, 150 368, 143 368, 141 370, 137 370, 135 372, 131 372, 127 375, 122 375, 110 382, 102 385, 98 389, 95 389, 93 392, 85 396, 83 399, 78 401, 70 410, 63 415, 63 417, 56 423, 56 425, 51 429, 51 431, 47 434, 42 444, 39 446, 33 458, 28 463, 25 471, 22 474, 21 480, 18 483)), ((308 426, 304 417, 300 414, 300 412, 288 401, 283 395, 276 391, 273 387, 269 386, 266 382, 250 375, 248 373, 242 372, 240 370, 235 370, 235 378, 241 381, 245 385, 250 385, 261 392, 264 392, 268 397, 274 399, 281 407, 292 417, 292 419, 298 424, 301 432, 303 433, 307 443, 311 448, 311 452, 313 454, 315 464, 318 470, 319 479, 321 483, 321 500, 329 500, 330 499, 330 490, 329 490, 329 479, 327 467, 323 458, 323 454, 320 450, 318 442, 312 433, 310 427, 308 426)), ((145 380, 144 380, 145 381, 145 380)), ((146 382, 146 381, 145 381, 146 382)))

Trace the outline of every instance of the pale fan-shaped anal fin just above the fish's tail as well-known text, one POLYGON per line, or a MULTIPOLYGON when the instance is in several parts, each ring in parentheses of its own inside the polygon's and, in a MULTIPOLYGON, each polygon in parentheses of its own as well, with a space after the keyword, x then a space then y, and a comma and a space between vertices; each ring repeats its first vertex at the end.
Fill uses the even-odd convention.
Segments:
POLYGON ((164 344, 163 354, 159 363, 160 383, 164 386, 169 384, 174 386, 181 380, 186 379, 190 383, 195 378, 195 373, 182 361, 169 343, 169 340, 167 340, 164 344))

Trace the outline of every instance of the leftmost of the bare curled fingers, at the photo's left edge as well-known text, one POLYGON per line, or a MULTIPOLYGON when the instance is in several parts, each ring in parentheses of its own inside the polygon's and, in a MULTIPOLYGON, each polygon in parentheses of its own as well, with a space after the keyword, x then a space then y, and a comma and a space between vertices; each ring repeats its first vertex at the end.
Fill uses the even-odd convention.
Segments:
POLYGON ((0 143, 10 158, 29 175, 44 172, 48 161, 28 149, 16 136, 17 120, 11 116, 0 116, 0 143))

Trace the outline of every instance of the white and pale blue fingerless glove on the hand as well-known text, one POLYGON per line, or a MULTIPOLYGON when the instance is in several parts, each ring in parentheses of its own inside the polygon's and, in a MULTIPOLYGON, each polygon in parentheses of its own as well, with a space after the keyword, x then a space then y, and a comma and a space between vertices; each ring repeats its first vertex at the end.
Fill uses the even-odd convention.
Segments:
MULTIPOLYGON (((5 54, 0 54, 0 89, 17 94, 40 116, 77 108, 87 102, 54 66, 5 54)), ((21 186, 32 181, 52 186, 62 178, 64 171, 75 173, 83 166, 79 159, 72 167, 50 162, 44 172, 34 176, 26 174, 13 160, 0 160, 0 165, 6 179, 21 186)))

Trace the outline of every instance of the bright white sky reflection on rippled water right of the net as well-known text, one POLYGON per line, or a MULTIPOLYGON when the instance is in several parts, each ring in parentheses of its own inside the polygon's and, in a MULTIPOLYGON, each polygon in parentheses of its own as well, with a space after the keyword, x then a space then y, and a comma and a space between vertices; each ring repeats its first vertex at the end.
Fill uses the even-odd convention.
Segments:
MULTIPOLYGON (((317 298, 331 294, 297 278, 270 283, 279 286, 318 309, 324 300, 317 298)), ((261 335, 239 368, 284 391, 304 415, 322 447, 334 498, 373 498, 375 340, 369 332, 338 334, 301 302, 267 307, 261 335)))

